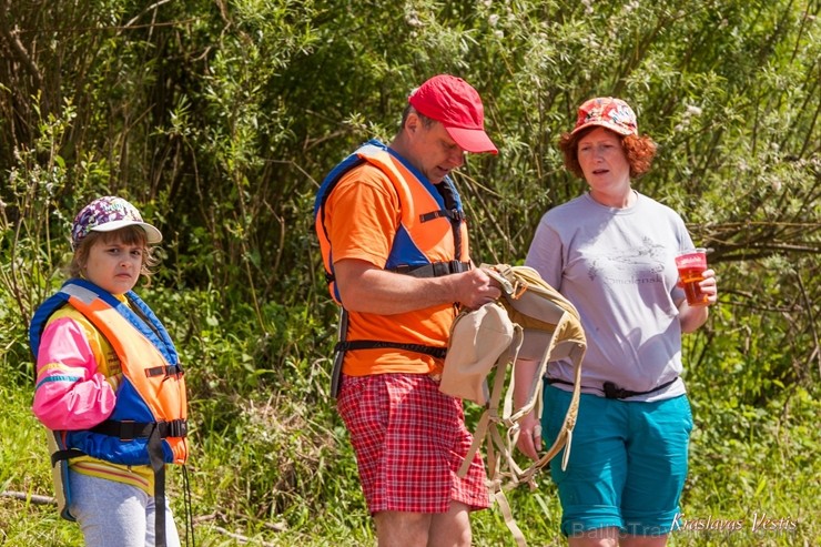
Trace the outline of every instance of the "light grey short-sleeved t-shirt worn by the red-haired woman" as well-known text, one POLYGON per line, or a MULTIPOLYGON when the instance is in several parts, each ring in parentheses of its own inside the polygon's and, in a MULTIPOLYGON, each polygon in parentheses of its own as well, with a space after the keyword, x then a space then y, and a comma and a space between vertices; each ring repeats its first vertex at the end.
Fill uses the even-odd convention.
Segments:
MULTIPOLYGON (((604 395, 605 382, 647 392, 681 373, 676 304, 685 294, 676 285, 673 256, 692 247, 692 240, 678 213, 636 195, 627 209, 601 205, 589 194, 551 209, 541 217, 525 262, 579 311, 588 345, 581 365, 586 393, 604 395)), ((572 382, 572 366, 550 363, 547 375, 572 382)), ((683 393, 679 378, 627 401, 683 393)))

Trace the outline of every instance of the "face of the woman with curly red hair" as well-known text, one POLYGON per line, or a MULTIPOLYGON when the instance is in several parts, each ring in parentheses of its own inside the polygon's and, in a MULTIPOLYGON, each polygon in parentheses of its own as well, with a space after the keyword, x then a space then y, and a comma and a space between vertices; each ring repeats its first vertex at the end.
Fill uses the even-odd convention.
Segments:
POLYGON ((629 191, 630 163, 618 134, 596 128, 579 139, 577 146, 579 165, 591 192, 612 195, 629 191))

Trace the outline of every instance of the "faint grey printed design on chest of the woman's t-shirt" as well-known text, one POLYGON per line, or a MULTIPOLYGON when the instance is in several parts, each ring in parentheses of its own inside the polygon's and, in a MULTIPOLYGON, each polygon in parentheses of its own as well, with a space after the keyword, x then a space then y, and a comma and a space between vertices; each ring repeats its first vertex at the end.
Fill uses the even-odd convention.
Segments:
POLYGON ((596 256, 587 271, 590 281, 601 281, 606 285, 639 285, 662 283, 667 254, 665 246, 649 237, 642 237, 639 245, 627 251, 612 250, 596 256))

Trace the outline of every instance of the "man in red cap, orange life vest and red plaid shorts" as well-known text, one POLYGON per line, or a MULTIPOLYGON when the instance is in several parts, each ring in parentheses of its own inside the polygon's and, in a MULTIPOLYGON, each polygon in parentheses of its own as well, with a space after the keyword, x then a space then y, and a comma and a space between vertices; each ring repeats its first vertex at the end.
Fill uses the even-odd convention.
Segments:
POLYGON ((388 145, 368 141, 325 179, 314 213, 328 288, 342 306, 332 393, 356 453, 379 547, 472 543, 489 506, 462 401, 439 392, 459 306, 499 290, 468 253, 448 176, 466 152, 497 153, 476 90, 436 75, 411 93, 388 145))

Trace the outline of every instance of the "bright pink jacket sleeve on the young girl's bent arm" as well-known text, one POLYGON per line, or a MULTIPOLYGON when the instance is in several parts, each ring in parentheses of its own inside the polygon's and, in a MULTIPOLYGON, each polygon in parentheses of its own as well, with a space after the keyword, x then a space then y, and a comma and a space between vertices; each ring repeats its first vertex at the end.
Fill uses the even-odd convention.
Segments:
POLYGON ((115 401, 83 327, 69 317, 49 323, 37 355, 38 419, 52 430, 88 429, 111 415, 115 401))

